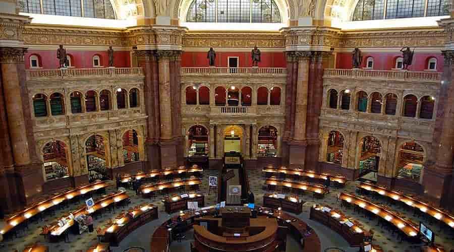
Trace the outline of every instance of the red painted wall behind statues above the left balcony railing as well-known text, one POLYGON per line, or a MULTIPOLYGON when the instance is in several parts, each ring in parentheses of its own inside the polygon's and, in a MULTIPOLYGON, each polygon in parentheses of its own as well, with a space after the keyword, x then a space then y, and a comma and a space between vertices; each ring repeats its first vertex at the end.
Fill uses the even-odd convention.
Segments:
MULTIPOLYGON (((94 55, 99 55, 101 58, 101 66, 107 67, 109 57, 107 51, 71 51, 66 50, 71 56, 72 65, 75 68, 93 68, 92 58, 94 55)), ((40 59, 40 67, 43 69, 57 69, 59 68, 59 59, 56 58, 55 51, 43 51, 43 50, 29 50, 25 53, 25 68, 30 69, 31 55, 37 55, 40 59)), ((113 52, 113 66, 117 68, 129 68, 131 67, 131 60, 129 51, 116 51, 113 52)))

